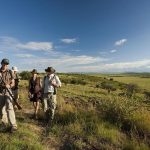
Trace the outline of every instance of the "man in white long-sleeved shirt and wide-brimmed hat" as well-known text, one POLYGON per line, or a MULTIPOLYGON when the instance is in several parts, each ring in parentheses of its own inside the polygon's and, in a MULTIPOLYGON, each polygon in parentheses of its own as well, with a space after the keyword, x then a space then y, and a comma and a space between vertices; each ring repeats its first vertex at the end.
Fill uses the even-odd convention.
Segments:
POLYGON ((45 69, 47 75, 43 79, 43 107, 48 125, 51 124, 56 109, 56 88, 61 87, 59 77, 55 75, 55 69, 48 67, 45 69))

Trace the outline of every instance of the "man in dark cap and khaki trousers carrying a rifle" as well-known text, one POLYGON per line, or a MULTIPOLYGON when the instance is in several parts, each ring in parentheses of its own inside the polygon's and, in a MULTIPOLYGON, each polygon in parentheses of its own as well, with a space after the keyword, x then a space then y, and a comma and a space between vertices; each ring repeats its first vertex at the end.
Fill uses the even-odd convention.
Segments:
POLYGON ((17 130, 13 101, 11 97, 11 88, 14 86, 14 76, 8 69, 9 60, 4 58, 1 61, 0 68, 0 115, 2 127, 6 127, 8 123, 11 125, 11 132, 17 130), (9 91, 8 91, 9 90, 9 91))

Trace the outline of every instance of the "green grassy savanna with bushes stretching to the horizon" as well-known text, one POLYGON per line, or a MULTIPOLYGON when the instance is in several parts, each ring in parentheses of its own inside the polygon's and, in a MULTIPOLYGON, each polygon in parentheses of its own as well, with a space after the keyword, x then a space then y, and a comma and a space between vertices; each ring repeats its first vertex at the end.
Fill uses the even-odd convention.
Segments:
MULTIPOLYGON (((43 74, 41 74, 41 77, 43 74)), ((0 132, 4 150, 149 150, 150 74, 59 73, 57 109, 46 129, 42 104, 38 119, 20 81, 18 131, 0 132)))

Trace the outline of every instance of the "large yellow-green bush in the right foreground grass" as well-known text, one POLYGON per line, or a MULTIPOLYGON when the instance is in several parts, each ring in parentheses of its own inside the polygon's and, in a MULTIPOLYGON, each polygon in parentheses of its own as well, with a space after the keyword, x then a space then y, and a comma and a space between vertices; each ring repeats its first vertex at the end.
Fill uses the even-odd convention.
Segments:
POLYGON ((125 131, 130 131, 133 128, 130 116, 139 108, 137 100, 112 97, 103 100, 100 107, 104 119, 110 123, 116 124, 125 131))

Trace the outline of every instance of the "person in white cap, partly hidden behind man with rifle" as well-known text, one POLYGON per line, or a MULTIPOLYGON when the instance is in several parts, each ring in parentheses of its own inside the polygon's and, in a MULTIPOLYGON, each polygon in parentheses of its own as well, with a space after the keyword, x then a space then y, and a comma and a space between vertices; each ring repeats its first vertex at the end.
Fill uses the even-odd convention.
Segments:
MULTIPOLYGON (((12 72, 13 72, 14 80, 15 80, 15 86, 12 88, 12 92, 13 92, 15 101, 18 102, 18 100, 19 100, 18 90, 19 90, 20 78, 19 78, 18 69, 16 66, 12 67, 12 72)), ((14 104, 14 107, 15 107, 15 104, 14 104)), ((15 107, 15 108, 17 108, 17 107, 15 107)))

